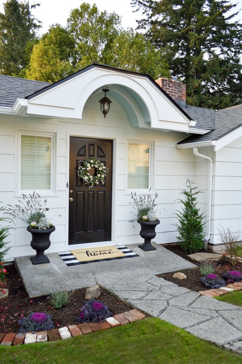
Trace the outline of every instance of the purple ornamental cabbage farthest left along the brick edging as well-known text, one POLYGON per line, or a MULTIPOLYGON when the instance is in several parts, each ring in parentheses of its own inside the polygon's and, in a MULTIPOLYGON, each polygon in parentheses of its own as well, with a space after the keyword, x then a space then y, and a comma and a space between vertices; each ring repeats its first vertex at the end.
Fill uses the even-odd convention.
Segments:
POLYGON ((51 320, 52 315, 47 313, 32 312, 26 318, 20 318, 18 321, 21 324, 20 333, 30 331, 45 331, 54 328, 54 323, 51 320))

